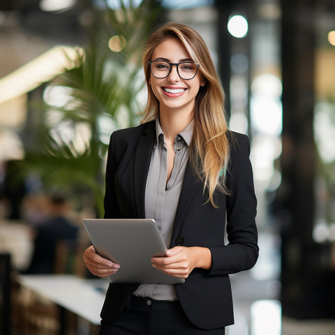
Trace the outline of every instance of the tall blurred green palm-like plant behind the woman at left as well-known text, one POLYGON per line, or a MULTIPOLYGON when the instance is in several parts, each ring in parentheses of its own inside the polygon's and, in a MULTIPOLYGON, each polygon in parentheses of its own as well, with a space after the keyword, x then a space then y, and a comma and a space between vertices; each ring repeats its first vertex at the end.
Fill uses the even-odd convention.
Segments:
POLYGON ((120 0, 119 10, 106 5, 96 11, 75 68, 50 82, 48 89, 61 88, 65 102, 43 105, 35 144, 23 161, 23 170, 38 174, 47 188, 93 195, 98 216, 103 215, 107 139, 115 129, 139 122, 142 46, 160 12, 161 3, 154 0, 139 6, 120 0))

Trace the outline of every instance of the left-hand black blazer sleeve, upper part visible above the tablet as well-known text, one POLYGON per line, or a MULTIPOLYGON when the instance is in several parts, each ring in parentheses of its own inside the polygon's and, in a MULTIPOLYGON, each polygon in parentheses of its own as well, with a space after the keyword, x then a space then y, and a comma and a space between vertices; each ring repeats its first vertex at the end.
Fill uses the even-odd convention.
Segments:
POLYGON ((115 192, 115 174, 117 171, 117 157, 114 150, 114 134, 110 136, 110 145, 108 147, 106 177, 105 177, 105 215, 104 218, 120 218, 121 213, 115 192))

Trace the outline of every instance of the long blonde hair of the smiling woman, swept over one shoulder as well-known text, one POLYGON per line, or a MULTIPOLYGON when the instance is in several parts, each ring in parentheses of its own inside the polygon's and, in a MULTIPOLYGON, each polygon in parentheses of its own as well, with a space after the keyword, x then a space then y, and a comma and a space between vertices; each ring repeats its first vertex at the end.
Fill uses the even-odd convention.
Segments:
POLYGON ((193 139, 190 144, 190 161, 204 184, 208 200, 217 208, 214 193, 221 191, 229 194, 225 186, 225 171, 229 160, 227 122, 223 107, 224 92, 211 60, 207 45, 201 36, 184 24, 169 22, 151 35, 144 49, 142 64, 147 82, 148 99, 142 114, 141 123, 154 120, 159 113, 159 101, 151 90, 150 66, 152 54, 159 43, 168 38, 178 38, 190 54, 193 61, 200 64, 199 70, 206 79, 195 98, 193 112, 193 139))

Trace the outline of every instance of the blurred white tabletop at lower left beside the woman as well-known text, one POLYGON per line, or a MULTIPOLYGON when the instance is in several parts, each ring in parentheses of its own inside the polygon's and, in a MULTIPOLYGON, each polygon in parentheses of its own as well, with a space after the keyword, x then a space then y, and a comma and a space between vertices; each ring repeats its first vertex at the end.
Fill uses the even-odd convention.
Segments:
POLYGON ((53 274, 18 275, 17 282, 91 324, 100 325, 107 280, 53 274))

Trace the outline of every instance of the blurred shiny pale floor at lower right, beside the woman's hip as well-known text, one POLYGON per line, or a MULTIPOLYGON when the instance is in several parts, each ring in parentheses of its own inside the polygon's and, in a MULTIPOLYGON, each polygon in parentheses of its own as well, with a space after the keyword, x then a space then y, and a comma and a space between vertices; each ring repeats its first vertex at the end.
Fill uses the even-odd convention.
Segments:
MULTIPOLYGON (((243 277, 243 278, 242 278, 243 277)), ((335 335, 335 320, 296 320, 281 315, 280 285, 232 278, 235 324, 226 335, 335 335)))

